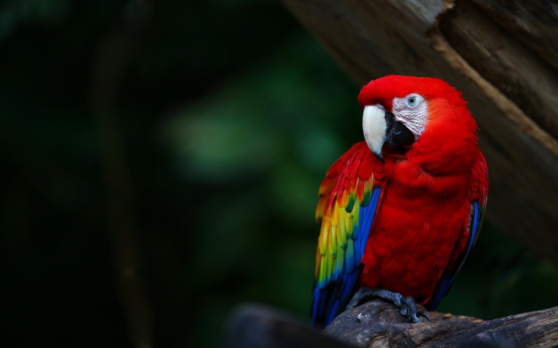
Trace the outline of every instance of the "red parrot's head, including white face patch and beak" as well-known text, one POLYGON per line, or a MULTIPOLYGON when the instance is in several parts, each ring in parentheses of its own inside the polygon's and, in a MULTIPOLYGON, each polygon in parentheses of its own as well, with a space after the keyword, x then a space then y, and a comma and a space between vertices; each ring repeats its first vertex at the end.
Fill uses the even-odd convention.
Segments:
POLYGON ((443 80, 388 75, 362 87, 358 100, 364 139, 382 162, 384 147, 404 150, 444 141, 449 129, 449 136, 476 141, 477 124, 466 102, 443 80))

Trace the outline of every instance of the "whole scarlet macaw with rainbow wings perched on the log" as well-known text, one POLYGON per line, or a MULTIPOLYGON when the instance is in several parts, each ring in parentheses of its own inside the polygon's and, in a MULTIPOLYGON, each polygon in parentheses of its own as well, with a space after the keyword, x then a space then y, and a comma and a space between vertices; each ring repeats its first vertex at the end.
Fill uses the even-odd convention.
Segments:
POLYGON ((312 325, 384 298, 407 322, 430 317, 479 236, 488 168, 461 92, 432 77, 362 87, 364 140, 319 189, 312 325))

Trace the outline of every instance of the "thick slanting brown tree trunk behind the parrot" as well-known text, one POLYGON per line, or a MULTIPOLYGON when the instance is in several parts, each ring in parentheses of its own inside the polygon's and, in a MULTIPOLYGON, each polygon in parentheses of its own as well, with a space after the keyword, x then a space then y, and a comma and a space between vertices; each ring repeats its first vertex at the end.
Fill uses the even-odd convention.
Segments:
POLYGON ((396 73, 463 92, 488 161, 487 220, 558 264, 558 3, 285 3, 360 85, 396 73))

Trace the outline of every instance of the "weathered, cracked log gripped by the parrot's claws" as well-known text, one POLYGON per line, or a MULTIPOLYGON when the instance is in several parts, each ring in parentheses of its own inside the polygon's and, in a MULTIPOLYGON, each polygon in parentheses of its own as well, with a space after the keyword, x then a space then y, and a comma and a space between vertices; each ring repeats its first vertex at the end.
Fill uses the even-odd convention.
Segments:
MULTIPOLYGON (((419 306, 424 311, 424 307, 419 306)), ((374 300, 342 313, 324 334, 358 347, 552 347, 558 307, 483 321, 427 312, 432 322, 406 324, 392 303, 374 300)))

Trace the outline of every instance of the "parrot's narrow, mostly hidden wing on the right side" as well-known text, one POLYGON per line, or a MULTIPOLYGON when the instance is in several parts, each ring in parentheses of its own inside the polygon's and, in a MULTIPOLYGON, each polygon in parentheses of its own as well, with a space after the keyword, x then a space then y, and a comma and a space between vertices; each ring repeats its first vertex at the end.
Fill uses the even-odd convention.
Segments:
POLYGON ((467 219, 467 226, 463 229, 461 237, 458 238, 453 257, 436 284, 434 293, 426 303, 426 309, 429 311, 435 310, 442 298, 448 295, 455 276, 457 276, 459 269, 461 269, 465 262, 465 258, 469 255, 479 236, 488 195, 488 168, 486 160, 480 151, 479 160, 473 166, 473 183, 469 192, 468 205, 470 206, 470 213, 467 219))

